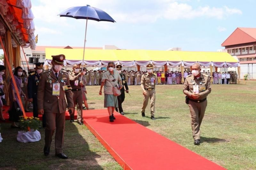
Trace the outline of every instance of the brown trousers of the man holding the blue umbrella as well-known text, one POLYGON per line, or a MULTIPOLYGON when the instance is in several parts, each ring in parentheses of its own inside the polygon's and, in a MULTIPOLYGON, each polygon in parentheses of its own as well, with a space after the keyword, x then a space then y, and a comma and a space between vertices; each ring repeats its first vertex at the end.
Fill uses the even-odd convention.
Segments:
POLYGON ((82 91, 72 91, 74 106, 76 106, 77 111, 77 121, 83 122, 83 93, 82 91))

